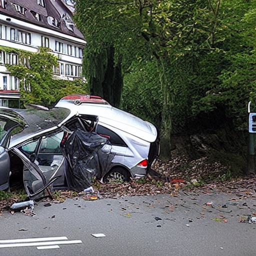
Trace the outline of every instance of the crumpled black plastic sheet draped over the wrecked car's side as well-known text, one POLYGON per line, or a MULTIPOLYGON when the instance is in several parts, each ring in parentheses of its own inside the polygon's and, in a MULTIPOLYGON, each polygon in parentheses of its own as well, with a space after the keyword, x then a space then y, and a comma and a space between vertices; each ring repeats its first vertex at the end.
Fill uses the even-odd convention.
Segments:
POLYGON ((93 178, 103 176, 113 158, 107 138, 81 129, 68 136, 61 150, 69 163, 67 185, 78 192, 91 186, 93 178))

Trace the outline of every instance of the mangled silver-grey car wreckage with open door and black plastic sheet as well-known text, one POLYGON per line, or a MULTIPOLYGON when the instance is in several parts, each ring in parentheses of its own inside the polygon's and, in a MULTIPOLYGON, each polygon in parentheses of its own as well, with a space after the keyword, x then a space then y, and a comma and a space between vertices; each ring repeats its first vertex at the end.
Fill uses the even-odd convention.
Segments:
POLYGON ((82 191, 96 178, 144 176, 158 154, 154 125, 97 96, 68 95, 50 110, 0 108, 0 190, 30 199, 82 191))

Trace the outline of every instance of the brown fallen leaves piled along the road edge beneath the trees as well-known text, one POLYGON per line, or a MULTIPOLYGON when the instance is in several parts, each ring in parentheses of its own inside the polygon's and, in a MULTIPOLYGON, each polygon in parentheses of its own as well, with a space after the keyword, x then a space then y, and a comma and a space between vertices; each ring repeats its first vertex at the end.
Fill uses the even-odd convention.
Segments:
MULTIPOLYGON (((256 177, 245 177, 225 181, 228 168, 219 162, 210 162, 207 157, 189 161, 183 155, 173 157, 170 161, 157 159, 152 166, 148 176, 131 180, 130 182, 102 184, 95 182, 92 184, 93 193, 74 191, 54 191, 54 199, 43 199, 45 202, 60 203, 66 198, 81 197, 85 200, 96 200, 100 198, 118 198, 121 196, 134 195, 156 195, 167 193, 170 196, 178 196, 180 190, 184 192, 220 191, 230 194, 240 194, 244 198, 255 196, 256 177)), ((16 201, 14 197, 0 200, 0 213, 8 210, 10 205, 16 201)), ((207 202, 206 206, 211 202, 207 202)), ((46 205, 45 205, 46 206, 46 205)), ((223 211, 219 209, 219 211, 223 211)), ((173 211, 172 208, 169 209, 173 211)), ((224 212, 224 211, 223 211, 224 212)), ((227 213, 225 211, 225 213, 227 213)))

